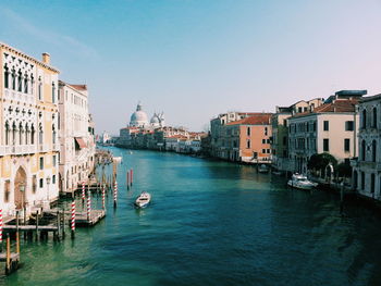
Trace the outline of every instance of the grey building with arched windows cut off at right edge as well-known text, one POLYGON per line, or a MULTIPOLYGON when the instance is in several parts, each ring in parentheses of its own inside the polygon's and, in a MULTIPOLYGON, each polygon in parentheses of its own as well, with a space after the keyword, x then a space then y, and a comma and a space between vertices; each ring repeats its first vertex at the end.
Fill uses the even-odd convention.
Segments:
POLYGON ((359 103, 358 158, 352 161, 353 187, 362 196, 381 200, 381 95, 359 103))

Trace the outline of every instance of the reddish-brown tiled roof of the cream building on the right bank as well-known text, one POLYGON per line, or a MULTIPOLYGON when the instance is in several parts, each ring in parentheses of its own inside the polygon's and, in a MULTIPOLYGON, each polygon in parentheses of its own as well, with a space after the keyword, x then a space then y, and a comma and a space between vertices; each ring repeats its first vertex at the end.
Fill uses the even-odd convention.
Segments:
POLYGON ((324 104, 316 108, 314 111, 297 113, 293 117, 302 117, 302 116, 306 116, 309 114, 317 114, 317 113, 355 112, 356 104, 358 104, 358 99, 336 99, 335 101, 333 101, 331 103, 324 103, 324 104))

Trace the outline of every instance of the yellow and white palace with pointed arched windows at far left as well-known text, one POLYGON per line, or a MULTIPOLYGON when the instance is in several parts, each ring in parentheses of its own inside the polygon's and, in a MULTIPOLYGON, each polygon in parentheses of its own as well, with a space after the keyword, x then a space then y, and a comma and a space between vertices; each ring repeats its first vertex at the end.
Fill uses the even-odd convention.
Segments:
POLYGON ((4 43, 0 66, 0 208, 29 213, 59 197, 59 71, 4 43))

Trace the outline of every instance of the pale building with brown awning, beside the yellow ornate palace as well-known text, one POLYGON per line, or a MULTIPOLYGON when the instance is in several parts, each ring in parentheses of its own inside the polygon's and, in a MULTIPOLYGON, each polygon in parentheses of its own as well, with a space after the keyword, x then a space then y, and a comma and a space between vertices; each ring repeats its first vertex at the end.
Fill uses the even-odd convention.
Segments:
POLYGON ((60 189, 72 192, 94 170, 95 142, 86 85, 59 82, 60 189))

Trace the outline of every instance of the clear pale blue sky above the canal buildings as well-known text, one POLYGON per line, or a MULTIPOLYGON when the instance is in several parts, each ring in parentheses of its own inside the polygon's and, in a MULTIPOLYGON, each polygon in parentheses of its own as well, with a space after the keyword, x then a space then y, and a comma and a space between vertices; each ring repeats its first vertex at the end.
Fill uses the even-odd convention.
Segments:
POLYGON ((0 0, 0 41, 87 84, 98 134, 149 116, 204 130, 342 89, 381 92, 380 0, 0 0))

